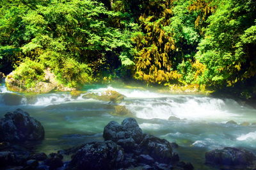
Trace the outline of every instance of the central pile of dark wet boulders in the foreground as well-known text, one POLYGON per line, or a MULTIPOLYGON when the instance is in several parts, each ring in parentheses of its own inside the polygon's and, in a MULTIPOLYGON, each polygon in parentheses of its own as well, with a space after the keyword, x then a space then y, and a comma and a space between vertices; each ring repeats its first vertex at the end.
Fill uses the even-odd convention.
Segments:
POLYGON ((88 143, 77 150, 70 169, 193 169, 179 162, 179 155, 165 139, 143 134, 134 118, 121 125, 111 121, 103 132, 104 142, 88 143))

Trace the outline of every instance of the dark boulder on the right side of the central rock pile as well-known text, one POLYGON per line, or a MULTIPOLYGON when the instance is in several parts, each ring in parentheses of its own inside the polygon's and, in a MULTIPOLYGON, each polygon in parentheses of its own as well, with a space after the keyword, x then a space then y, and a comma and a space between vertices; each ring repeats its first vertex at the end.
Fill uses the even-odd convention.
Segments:
POLYGON ((171 144, 165 139, 146 135, 140 144, 140 148, 141 153, 150 155, 159 163, 170 164, 173 160, 177 161, 177 158, 173 157, 171 144))

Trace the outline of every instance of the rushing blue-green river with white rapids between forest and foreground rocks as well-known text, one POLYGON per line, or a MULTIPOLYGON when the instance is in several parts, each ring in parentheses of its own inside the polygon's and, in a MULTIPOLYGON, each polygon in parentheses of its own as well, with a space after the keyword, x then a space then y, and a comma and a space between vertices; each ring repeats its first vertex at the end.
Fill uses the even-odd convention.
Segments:
MULTIPOLYGON (((181 160, 192 162, 196 169, 214 169, 204 164, 204 153, 214 148, 234 146, 256 152, 256 109, 229 98, 203 95, 167 95, 147 90, 88 86, 84 93, 101 93, 113 89, 125 95, 125 105, 143 132, 179 144, 181 160), (168 120, 175 116, 180 120, 168 120), (250 125, 226 124, 248 121, 250 125)), ((102 141, 102 131, 109 121, 124 118, 112 116, 108 102, 70 93, 21 95, 0 86, 0 116, 17 108, 24 109, 45 128, 45 140, 35 150, 52 153, 90 141, 102 141)))

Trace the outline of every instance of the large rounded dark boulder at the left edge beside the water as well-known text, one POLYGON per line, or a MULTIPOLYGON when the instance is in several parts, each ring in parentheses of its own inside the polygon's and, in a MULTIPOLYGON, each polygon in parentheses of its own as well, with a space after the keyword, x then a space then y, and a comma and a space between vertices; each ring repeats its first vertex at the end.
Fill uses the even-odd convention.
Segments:
POLYGON ((44 139, 44 127, 27 112, 17 109, 0 120, 0 141, 24 142, 44 139))

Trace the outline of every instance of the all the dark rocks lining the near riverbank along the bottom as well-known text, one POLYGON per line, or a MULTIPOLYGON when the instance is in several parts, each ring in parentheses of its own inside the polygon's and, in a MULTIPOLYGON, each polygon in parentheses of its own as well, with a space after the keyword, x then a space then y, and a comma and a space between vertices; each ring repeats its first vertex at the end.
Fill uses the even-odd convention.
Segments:
MULTIPOLYGON (((103 137, 102 142, 58 153, 34 153, 31 143, 44 139, 44 127, 17 109, 0 120, 0 169, 193 169, 191 163, 180 161, 176 143, 143 133, 134 118, 125 118, 121 124, 110 121, 103 137)), ((253 169, 255 160, 253 153, 238 148, 205 154, 205 163, 229 169, 253 169)))

